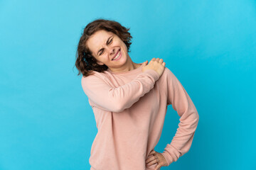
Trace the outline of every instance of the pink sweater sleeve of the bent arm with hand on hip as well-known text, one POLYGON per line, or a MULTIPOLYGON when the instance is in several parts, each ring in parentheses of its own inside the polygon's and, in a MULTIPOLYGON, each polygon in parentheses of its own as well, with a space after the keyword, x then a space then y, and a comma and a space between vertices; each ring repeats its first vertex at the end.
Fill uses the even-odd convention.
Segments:
POLYGON ((169 166, 190 149, 198 125, 199 115, 180 81, 178 81, 174 74, 167 68, 166 74, 167 105, 171 104, 181 117, 179 119, 180 123, 178 123, 176 135, 173 140, 171 140, 171 144, 166 145, 162 153, 169 166))

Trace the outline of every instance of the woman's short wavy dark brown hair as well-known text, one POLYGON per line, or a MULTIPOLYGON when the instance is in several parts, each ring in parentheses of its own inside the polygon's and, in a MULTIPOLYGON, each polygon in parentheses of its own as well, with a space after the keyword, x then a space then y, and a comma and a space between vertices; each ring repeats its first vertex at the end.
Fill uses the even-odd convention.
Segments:
POLYGON ((90 74, 93 74, 92 71, 104 72, 108 68, 105 64, 97 64, 97 60, 92 56, 92 52, 86 46, 87 40, 94 33, 96 33, 97 30, 106 30, 117 35, 127 46, 127 52, 130 52, 129 47, 132 44, 132 35, 128 32, 129 29, 130 28, 125 28, 117 21, 102 18, 88 23, 83 30, 82 36, 78 43, 78 50, 76 52, 75 67, 77 67, 79 71, 78 75, 82 74, 82 76, 87 77, 90 74))

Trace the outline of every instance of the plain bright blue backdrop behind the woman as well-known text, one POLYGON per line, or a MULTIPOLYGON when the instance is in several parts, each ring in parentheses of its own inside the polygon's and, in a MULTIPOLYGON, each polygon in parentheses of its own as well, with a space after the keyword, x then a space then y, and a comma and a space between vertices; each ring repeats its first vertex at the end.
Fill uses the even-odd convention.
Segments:
MULTIPOLYGON (((256 169, 256 1, 0 1, 0 169, 90 169, 95 117, 75 65, 87 23, 130 29, 133 62, 164 59, 200 120, 161 169, 256 169)), ((157 152, 178 128, 169 106, 157 152)))

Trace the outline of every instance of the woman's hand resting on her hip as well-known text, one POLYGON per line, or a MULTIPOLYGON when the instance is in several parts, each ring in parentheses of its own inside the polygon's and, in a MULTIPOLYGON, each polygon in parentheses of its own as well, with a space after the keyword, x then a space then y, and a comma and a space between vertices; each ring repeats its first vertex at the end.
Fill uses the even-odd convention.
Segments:
POLYGON ((167 166, 168 163, 166 162, 166 159, 164 158, 164 156, 153 150, 151 150, 151 152, 149 153, 149 156, 146 159, 146 166, 150 166, 151 164, 156 164, 157 166, 154 170, 159 170, 161 168, 161 166, 167 166))

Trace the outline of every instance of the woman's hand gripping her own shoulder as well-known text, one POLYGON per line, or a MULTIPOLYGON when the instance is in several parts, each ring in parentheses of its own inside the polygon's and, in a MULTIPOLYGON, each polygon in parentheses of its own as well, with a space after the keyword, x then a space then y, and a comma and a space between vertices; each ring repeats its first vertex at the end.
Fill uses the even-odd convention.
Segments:
POLYGON ((148 61, 144 62, 144 66, 142 67, 142 72, 145 72, 147 69, 153 69, 156 71, 159 76, 161 77, 161 74, 164 72, 165 62, 163 62, 162 59, 159 58, 152 58, 152 60, 147 64, 148 61), (145 65, 147 64, 147 65, 145 65))

